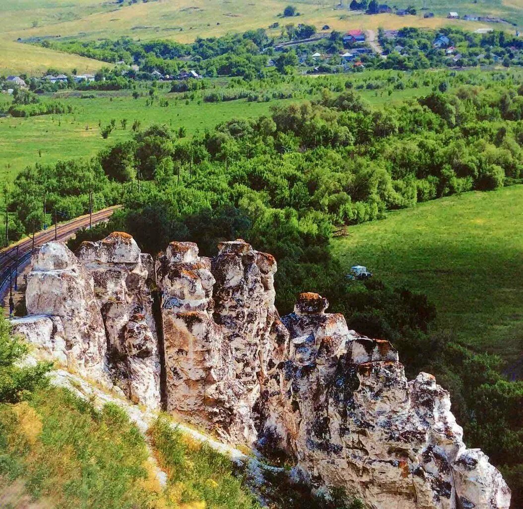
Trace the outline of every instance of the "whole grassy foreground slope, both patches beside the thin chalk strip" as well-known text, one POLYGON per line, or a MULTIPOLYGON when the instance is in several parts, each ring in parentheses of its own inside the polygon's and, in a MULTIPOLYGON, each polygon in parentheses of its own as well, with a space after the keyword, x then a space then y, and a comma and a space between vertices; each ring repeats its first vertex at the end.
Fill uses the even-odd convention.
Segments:
POLYGON ((257 509, 225 457, 173 430, 151 428, 158 482, 138 428, 115 404, 101 411, 66 389, 0 405, 0 507, 257 509))

